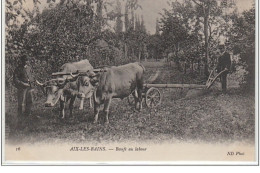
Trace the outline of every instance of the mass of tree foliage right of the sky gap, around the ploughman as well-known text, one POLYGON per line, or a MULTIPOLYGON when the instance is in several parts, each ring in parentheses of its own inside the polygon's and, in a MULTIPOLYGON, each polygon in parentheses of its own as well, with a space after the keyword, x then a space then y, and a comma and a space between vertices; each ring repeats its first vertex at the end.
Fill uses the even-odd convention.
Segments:
MULTIPOLYGON (((249 56, 250 50, 247 48, 254 49, 254 16, 252 16, 254 9, 247 15, 244 12, 246 16, 242 20, 238 17, 234 1, 185 0, 173 1, 169 5, 171 8, 163 11, 160 26, 156 25, 155 35, 160 37, 157 40, 163 44, 161 55, 168 54, 168 57, 174 58, 177 64, 181 61, 191 64, 203 62, 204 72, 207 75, 208 70, 216 66, 219 44, 225 43, 227 51, 231 53, 235 49, 244 50, 247 52, 244 52, 246 54, 244 57, 249 56), (237 34, 238 32, 243 36, 237 34), (246 40, 250 40, 250 43, 246 40)), ((240 54, 241 63, 253 66, 254 52, 251 51, 251 61, 242 58, 242 54, 240 54)), ((247 68, 249 69, 251 72, 248 75, 254 73, 254 68, 247 68)))

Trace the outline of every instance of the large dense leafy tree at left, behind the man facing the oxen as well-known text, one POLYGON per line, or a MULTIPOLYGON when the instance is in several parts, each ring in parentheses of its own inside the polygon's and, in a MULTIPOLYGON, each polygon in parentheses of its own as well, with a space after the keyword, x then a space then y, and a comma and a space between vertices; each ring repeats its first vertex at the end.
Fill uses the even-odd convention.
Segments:
MULTIPOLYGON (((102 14, 104 12, 102 9, 108 5, 105 1, 47 2, 53 5, 42 12, 39 12, 35 3, 33 12, 27 11, 28 15, 24 17, 24 22, 20 26, 12 28, 10 26, 13 23, 12 18, 7 22, 6 64, 8 67, 10 65, 6 73, 8 76, 11 76, 15 60, 22 51, 31 56, 35 73, 43 79, 48 76, 46 74, 57 71, 65 62, 88 58, 93 65, 98 65, 101 59, 107 56, 103 56, 95 48, 97 41, 104 37, 101 29, 109 20, 102 14), (94 4, 97 4, 98 8, 95 9, 94 4), (20 48, 16 45, 20 45, 20 48), (101 55, 93 56, 93 54, 101 55)), ((22 3, 15 5, 19 4, 22 5, 22 3)), ((10 8, 12 9, 12 6, 10 8)), ((112 46, 110 48, 113 53, 112 46)))

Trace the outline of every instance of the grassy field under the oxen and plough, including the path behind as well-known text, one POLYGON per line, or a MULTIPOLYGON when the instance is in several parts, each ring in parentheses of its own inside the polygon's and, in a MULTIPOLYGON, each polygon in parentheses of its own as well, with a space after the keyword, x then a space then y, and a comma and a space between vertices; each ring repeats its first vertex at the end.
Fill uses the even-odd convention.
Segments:
MULTIPOLYGON (((153 83, 203 84, 195 75, 184 75, 162 62, 144 63, 146 82, 154 74, 153 83)), ((229 86, 227 94, 221 94, 218 84, 210 91, 188 89, 160 89, 162 104, 156 109, 144 107, 134 111, 127 99, 114 99, 110 108, 110 124, 104 125, 102 115, 93 124, 93 110, 85 104, 83 111, 75 104, 74 117, 61 120, 59 108, 45 108, 44 99, 37 100, 34 115, 28 118, 24 128, 8 137, 8 143, 50 142, 176 142, 203 141, 222 143, 233 141, 254 142, 254 96, 229 86)), ((6 124, 12 126, 16 104, 6 106, 6 124)), ((68 115, 68 110, 66 111, 68 115)))

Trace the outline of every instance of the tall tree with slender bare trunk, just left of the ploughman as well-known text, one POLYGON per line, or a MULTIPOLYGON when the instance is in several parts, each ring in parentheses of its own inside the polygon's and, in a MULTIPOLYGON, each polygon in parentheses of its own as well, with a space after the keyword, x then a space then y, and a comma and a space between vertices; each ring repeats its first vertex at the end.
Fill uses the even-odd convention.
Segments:
POLYGON ((212 61, 210 53, 212 48, 216 48, 219 43, 219 38, 213 38, 215 35, 226 35, 228 33, 228 18, 223 13, 225 9, 232 10, 234 6, 233 1, 217 1, 217 0, 192 0, 196 5, 197 21, 203 24, 203 37, 204 37, 204 73, 209 75, 209 63, 212 61), (203 18, 201 21, 200 18, 203 18), (223 22, 224 20, 224 22, 223 22), (225 25, 226 24, 226 25, 225 25))

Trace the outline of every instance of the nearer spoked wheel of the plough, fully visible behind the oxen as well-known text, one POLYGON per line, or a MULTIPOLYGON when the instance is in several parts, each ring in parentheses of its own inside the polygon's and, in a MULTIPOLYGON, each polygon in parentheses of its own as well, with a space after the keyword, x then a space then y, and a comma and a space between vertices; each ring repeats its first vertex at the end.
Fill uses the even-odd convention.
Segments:
POLYGON ((145 94, 145 104, 149 108, 155 108, 161 104, 161 93, 157 88, 150 88, 145 94))

